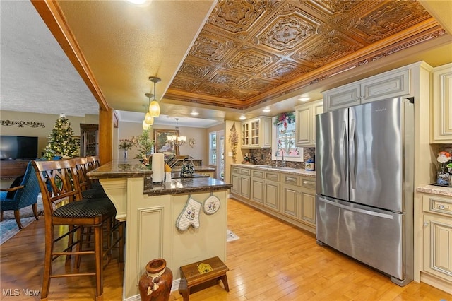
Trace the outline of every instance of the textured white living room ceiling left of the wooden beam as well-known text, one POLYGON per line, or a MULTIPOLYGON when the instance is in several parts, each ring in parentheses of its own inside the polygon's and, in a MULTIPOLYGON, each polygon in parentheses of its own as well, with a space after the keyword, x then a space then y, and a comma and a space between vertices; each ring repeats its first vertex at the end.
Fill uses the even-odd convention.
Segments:
POLYGON ((1 110, 83 117, 99 105, 30 1, 0 1, 1 110))

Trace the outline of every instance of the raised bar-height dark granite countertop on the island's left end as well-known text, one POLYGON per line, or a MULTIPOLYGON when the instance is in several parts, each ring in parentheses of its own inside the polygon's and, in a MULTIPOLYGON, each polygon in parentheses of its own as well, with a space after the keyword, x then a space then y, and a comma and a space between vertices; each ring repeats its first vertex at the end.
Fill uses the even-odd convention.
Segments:
POLYGON ((95 170, 88 172, 90 179, 105 179, 117 177, 144 177, 152 175, 153 171, 136 160, 113 160, 104 165, 100 165, 95 170))

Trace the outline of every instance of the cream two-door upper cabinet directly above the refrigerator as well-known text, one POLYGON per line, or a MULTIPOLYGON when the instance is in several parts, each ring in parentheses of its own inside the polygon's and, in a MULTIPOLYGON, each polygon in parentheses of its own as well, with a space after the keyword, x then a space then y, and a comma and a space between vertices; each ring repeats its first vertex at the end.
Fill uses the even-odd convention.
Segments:
POLYGON ((410 95, 410 69, 403 67, 323 92, 324 111, 410 95))

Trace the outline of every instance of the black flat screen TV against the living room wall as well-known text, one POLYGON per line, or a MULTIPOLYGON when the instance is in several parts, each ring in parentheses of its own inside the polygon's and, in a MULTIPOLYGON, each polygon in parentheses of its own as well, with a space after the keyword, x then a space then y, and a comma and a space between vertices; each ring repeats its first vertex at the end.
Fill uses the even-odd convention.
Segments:
POLYGON ((37 137, 0 136, 0 159, 37 158, 37 137))

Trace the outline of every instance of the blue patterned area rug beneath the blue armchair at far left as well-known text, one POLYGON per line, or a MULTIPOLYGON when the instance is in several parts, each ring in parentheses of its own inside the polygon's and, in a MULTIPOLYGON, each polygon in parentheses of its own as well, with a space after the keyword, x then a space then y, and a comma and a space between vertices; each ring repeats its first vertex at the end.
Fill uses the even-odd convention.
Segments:
MULTIPOLYGON (((41 194, 37 196, 37 214, 41 216, 44 212, 44 207, 42 206, 42 198, 41 194)), ((35 220, 35 216, 33 216, 32 206, 27 206, 25 208, 20 209, 20 222, 23 225, 23 228, 30 225, 33 220, 35 220)), ((16 235, 19 232, 18 225, 16 223, 16 219, 14 218, 14 211, 5 211, 3 214, 3 221, 0 222, 0 244, 6 242, 11 237, 16 235)))

